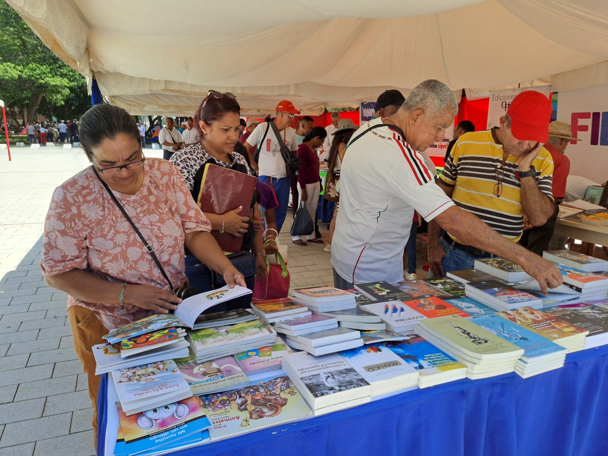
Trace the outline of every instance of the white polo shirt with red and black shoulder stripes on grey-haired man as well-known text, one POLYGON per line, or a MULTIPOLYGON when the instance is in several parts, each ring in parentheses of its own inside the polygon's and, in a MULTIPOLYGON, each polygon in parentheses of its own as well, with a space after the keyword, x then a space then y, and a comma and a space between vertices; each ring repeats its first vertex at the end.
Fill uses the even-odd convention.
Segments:
POLYGON ((420 153, 381 119, 353 135, 340 170, 340 208, 331 264, 348 282, 403 280, 414 209, 427 221, 454 206, 438 187, 420 153))

